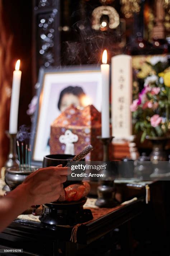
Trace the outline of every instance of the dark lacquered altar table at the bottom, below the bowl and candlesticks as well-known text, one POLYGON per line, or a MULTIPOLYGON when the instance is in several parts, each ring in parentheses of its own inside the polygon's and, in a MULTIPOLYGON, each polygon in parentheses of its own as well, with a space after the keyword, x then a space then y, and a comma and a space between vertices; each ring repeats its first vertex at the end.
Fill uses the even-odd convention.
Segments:
POLYGON ((169 182, 150 185, 151 201, 148 204, 145 186, 133 185, 119 184, 119 189, 122 186, 124 195, 131 197, 135 194, 134 191, 132 193, 134 187, 134 190, 138 190, 137 200, 80 225, 76 241, 70 241, 73 227, 47 226, 38 222, 38 217, 33 221, 19 216, 0 233, 0 248, 22 248, 23 255, 39 256, 140 256, 146 252, 168 255, 169 207, 165 202, 164 190, 165 187, 169 188, 169 182), (136 240, 140 241, 140 246, 136 240))

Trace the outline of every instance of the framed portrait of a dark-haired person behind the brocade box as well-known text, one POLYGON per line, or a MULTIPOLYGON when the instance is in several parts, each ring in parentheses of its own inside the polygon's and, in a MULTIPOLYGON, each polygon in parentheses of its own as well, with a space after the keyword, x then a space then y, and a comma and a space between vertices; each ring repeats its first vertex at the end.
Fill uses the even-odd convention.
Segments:
POLYGON ((42 162, 50 154, 49 138, 53 121, 70 105, 93 104, 101 111, 100 67, 79 66, 40 69, 38 104, 32 124, 32 161, 42 162))

